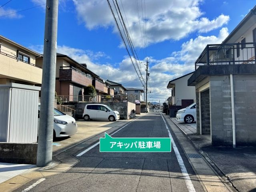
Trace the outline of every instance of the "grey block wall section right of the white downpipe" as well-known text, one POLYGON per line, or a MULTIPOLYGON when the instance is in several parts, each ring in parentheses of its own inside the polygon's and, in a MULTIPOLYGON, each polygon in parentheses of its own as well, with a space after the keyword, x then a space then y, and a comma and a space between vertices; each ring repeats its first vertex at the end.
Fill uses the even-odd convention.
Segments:
POLYGON ((256 75, 233 75, 237 145, 256 146, 256 75))

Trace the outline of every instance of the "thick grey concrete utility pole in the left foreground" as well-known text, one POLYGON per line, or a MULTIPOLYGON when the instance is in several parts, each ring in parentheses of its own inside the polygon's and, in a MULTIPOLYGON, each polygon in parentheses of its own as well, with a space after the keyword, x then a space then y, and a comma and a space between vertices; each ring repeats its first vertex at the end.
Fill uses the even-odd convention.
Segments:
POLYGON ((58 0, 46 0, 40 124, 36 160, 38 167, 49 166, 52 163, 57 23, 58 0))

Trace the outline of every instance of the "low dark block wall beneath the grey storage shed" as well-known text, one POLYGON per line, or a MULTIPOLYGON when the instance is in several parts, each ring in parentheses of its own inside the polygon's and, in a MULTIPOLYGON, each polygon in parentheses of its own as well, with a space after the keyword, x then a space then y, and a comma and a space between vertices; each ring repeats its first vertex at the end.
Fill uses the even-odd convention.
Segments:
POLYGON ((0 142, 0 162, 36 164, 37 143, 0 142))

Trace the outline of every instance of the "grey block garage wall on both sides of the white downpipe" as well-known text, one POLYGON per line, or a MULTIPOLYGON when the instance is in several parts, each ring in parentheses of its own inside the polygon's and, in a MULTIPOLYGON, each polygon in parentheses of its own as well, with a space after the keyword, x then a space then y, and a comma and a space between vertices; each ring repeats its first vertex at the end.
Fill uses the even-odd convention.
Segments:
MULTIPOLYGON (((256 75, 233 75, 236 144, 256 146, 256 75)), ((232 146, 230 76, 210 77, 212 144, 232 146)))

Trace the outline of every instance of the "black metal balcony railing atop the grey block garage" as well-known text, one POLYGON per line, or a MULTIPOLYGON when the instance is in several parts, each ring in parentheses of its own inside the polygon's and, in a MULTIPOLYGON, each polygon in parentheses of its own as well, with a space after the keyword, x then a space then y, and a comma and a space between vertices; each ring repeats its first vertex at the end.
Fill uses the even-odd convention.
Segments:
POLYGON ((199 66, 256 64, 256 43, 210 44, 195 62, 199 66))

